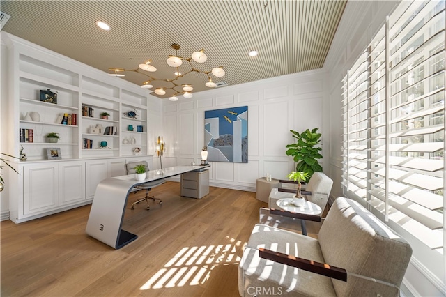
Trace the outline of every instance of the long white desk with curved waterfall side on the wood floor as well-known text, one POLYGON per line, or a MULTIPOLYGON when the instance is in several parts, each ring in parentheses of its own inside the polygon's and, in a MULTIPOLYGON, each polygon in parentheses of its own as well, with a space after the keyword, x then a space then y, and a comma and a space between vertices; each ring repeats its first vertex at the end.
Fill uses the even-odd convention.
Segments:
POLYGON ((134 174, 106 178, 96 188, 89 221, 86 224, 86 234, 115 249, 131 243, 138 236, 121 229, 130 190, 141 183, 157 185, 164 181, 164 178, 186 172, 201 171, 206 167, 210 167, 210 165, 174 166, 164 168, 162 174, 159 174, 158 170, 151 170, 146 173, 144 181, 137 181, 134 174))

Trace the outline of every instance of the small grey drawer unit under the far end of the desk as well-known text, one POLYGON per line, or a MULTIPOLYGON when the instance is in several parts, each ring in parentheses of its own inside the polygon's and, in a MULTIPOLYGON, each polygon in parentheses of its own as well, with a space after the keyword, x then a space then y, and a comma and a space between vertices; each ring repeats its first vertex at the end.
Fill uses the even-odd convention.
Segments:
POLYGON ((201 199, 209 194, 209 171, 181 174, 181 196, 201 199))

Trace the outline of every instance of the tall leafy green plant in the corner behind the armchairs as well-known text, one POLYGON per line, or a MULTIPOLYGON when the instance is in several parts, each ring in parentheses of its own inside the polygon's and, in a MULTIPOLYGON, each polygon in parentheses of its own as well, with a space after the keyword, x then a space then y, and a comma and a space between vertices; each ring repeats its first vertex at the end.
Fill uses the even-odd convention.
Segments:
POLYGON ((318 159, 322 158, 319 153, 319 151, 322 151, 319 146, 321 144, 321 133, 317 132, 318 129, 307 129, 302 133, 290 130, 296 142, 286 145, 286 148, 288 148, 286 155, 291 155, 296 162, 295 171, 306 172, 308 178, 312 177, 314 172, 322 172, 322 166, 318 163, 318 159))

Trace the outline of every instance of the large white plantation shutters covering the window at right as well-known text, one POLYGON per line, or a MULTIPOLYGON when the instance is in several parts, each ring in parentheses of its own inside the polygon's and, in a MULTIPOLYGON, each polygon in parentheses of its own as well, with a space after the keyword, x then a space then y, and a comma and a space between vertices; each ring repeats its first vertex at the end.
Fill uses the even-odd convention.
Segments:
POLYGON ((402 1, 342 90, 344 193, 443 254, 445 1, 402 1))

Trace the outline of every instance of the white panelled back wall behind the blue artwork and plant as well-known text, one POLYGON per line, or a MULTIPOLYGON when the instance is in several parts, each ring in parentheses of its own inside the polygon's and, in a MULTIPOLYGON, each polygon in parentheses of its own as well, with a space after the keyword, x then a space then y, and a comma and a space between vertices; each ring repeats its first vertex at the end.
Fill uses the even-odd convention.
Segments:
MULTIPOLYGON (((199 162, 206 110, 247 105, 248 162, 210 162, 210 185, 255 191, 256 179, 267 173, 286 178, 295 168, 285 154, 286 144, 293 143, 289 130, 320 128, 328 141, 323 132, 323 96, 323 72, 313 70, 194 93, 192 99, 164 100, 163 166, 199 162)), ((323 149, 323 155, 326 152, 323 149)))

